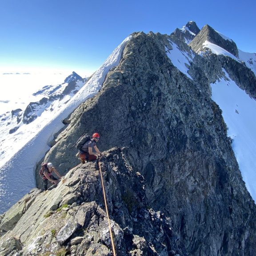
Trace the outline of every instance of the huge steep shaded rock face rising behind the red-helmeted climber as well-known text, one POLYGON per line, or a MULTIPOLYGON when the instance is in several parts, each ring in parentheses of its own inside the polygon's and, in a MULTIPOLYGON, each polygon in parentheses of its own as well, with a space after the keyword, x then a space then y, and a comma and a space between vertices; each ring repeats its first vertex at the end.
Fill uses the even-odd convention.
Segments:
POLYGON ((192 81, 166 56, 167 41, 133 34, 120 64, 100 92, 68 117, 45 160, 67 172, 77 163, 72 145, 79 136, 100 132, 100 150, 127 148, 127 162, 144 176, 149 206, 171 219, 184 255, 253 255, 256 207, 221 110, 210 98, 209 82, 221 75, 222 64, 215 60, 216 72, 210 71, 199 56, 192 81))

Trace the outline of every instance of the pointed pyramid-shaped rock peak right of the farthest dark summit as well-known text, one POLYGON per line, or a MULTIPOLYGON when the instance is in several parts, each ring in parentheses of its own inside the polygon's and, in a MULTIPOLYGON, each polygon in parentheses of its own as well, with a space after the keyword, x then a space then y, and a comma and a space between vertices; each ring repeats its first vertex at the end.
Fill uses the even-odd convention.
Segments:
POLYGON ((220 46, 221 48, 232 53, 234 56, 238 57, 238 49, 235 42, 225 40, 209 25, 205 25, 189 45, 195 52, 203 51, 203 43, 206 40, 220 46))

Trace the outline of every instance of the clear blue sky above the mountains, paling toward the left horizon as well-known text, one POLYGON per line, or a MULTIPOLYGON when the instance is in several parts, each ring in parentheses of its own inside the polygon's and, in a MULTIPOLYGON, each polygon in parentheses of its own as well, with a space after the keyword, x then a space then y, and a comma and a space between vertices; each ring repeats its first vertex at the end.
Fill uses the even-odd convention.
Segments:
POLYGON ((255 10, 254 0, 1 0, 0 73, 90 75, 132 32, 170 34, 190 20, 256 52, 255 10))

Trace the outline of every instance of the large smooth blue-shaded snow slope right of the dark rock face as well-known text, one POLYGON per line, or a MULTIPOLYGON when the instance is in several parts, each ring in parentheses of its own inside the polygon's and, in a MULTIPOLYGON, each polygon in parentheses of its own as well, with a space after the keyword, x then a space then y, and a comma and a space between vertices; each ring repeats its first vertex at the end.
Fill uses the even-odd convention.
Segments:
POLYGON ((212 100, 222 110, 243 180, 256 202, 256 100, 250 98, 223 71, 228 80, 222 78, 211 84, 212 100))

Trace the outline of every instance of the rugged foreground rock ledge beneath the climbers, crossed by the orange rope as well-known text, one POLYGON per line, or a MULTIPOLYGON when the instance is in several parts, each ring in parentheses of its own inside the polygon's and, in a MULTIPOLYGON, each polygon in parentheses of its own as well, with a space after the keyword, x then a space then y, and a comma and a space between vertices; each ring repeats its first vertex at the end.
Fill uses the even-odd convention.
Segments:
MULTIPOLYGON (((171 220, 150 208, 144 178, 113 148, 100 160, 116 255, 186 255, 171 220)), ((0 256, 112 255, 96 163, 72 168, 56 188, 33 189, 0 216, 0 256)))

